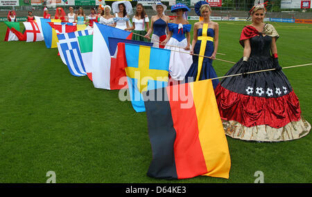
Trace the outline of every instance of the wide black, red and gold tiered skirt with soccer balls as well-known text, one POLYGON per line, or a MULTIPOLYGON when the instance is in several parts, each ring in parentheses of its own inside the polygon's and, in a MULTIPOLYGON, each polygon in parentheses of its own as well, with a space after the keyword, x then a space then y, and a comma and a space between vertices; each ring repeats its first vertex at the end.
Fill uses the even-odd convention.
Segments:
MULTIPOLYGON (((270 60, 250 68, 272 68, 270 60)), ((227 75, 242 73, 241 61, 227 75)), ((277 142, 307 135, 311 124, 301 116, 297 95, 282 71, 227 77, 215 89, 225 134, 241 140, 277 142)))

